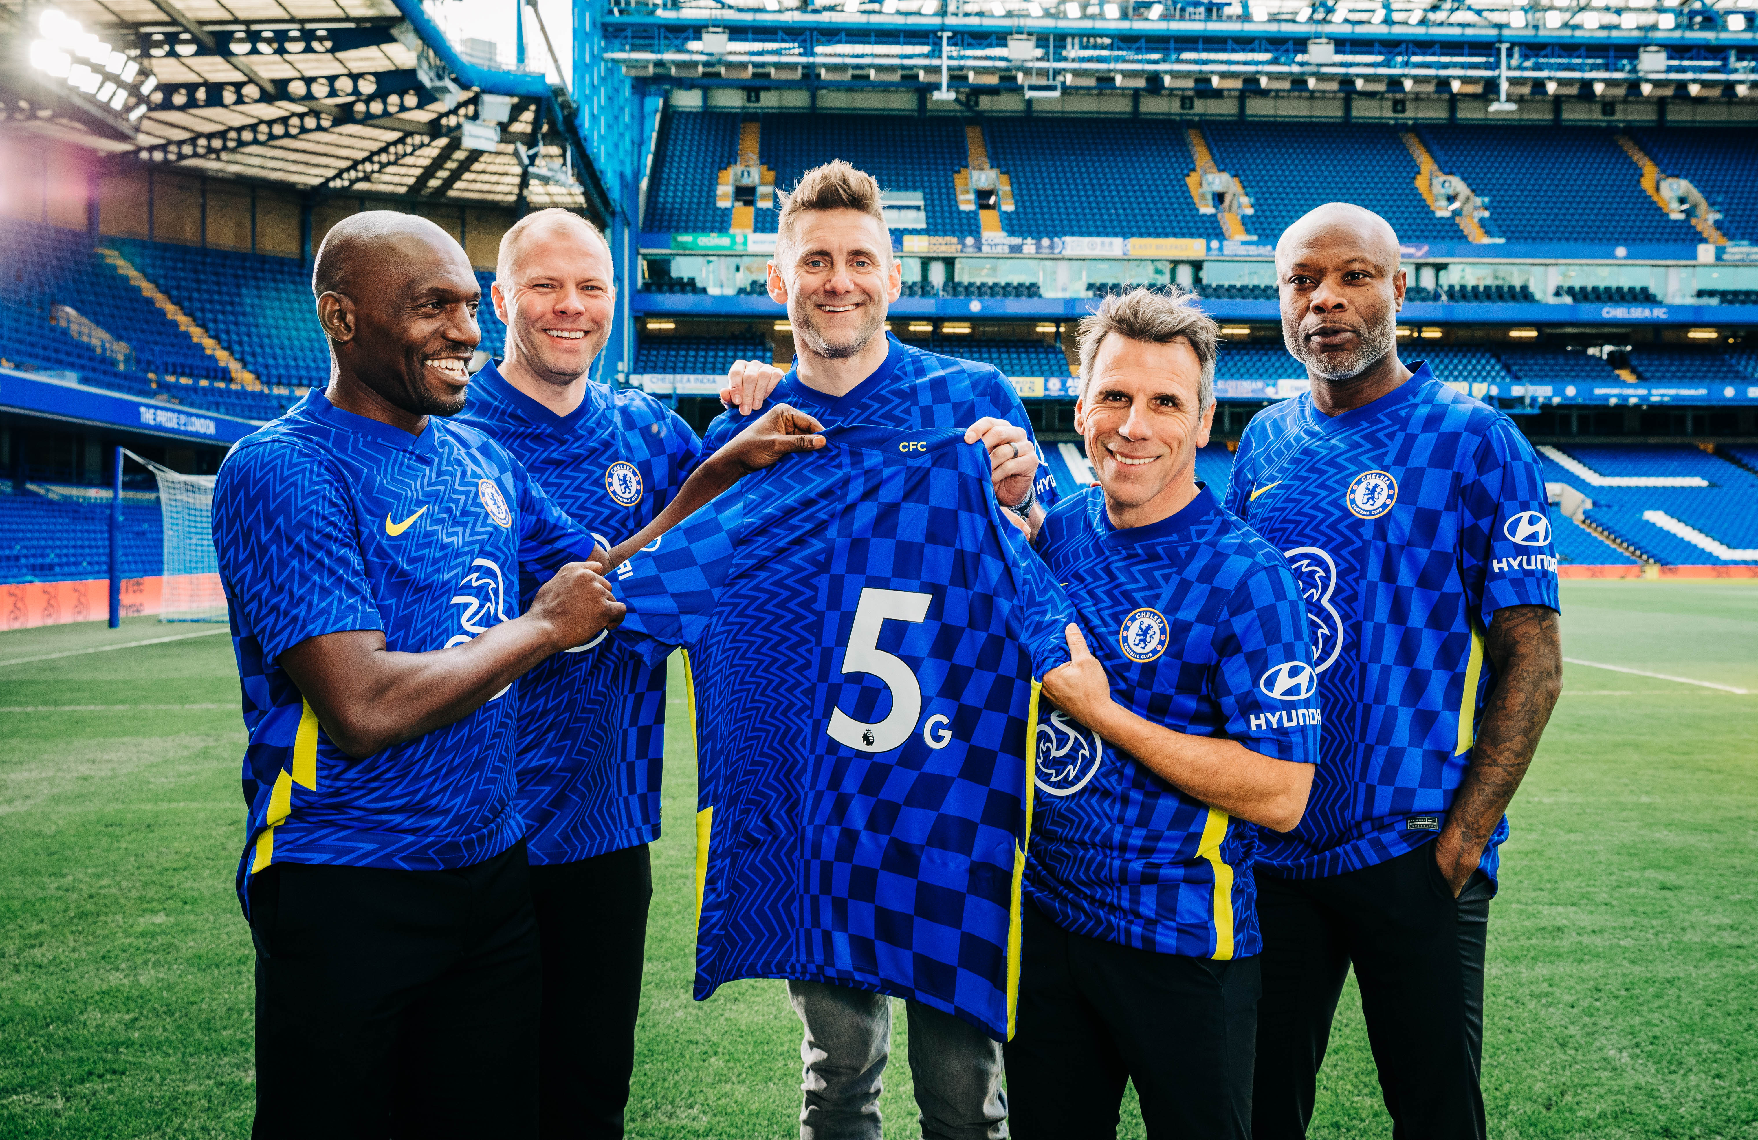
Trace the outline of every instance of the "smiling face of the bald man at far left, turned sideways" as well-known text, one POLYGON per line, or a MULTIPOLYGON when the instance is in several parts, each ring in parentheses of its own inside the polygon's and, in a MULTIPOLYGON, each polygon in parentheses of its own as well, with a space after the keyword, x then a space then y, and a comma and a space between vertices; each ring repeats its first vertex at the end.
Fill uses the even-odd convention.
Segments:
POLYGON ((338 366, 410 415, 464 408, 469 354, 482 340, 482 287, 464 250, 427 223, 357 239, 345 283, 318 297, 338 366))

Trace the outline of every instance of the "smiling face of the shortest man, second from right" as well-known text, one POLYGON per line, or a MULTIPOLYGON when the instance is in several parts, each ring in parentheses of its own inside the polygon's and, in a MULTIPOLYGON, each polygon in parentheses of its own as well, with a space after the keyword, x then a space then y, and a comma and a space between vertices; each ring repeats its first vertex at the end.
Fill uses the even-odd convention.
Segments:
POLYGON ((1195 496, 1195 454, 1208 443, 1215 405, 1199 410, 1202 364, 1188 341, 1164 345, 1111 334, 1093 357, 1074 405, 1086 459, 1104 487, 1111 522, 1146 526, 1195 496))

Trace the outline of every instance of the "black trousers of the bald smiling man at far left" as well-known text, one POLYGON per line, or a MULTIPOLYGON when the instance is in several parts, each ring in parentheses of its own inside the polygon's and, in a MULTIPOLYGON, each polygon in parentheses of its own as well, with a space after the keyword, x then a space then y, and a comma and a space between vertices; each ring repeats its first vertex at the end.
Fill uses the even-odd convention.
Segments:
POLYGON ((526 846, 457 871, 250 876, 257 1138, 533 1136, 526 846))

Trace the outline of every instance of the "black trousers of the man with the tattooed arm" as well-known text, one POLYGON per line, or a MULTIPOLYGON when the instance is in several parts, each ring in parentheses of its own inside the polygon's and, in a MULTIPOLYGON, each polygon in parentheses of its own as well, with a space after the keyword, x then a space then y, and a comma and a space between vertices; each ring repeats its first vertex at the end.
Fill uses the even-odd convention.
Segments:
POLYGON ((1489 876, 1459 897, 1422 844, 1317 880, 1257 873, 1264 1001, 1252 1135, 1306 1135, 1331 1019, 1350 966, 1398 1140, 1480 1140, 1489 876))

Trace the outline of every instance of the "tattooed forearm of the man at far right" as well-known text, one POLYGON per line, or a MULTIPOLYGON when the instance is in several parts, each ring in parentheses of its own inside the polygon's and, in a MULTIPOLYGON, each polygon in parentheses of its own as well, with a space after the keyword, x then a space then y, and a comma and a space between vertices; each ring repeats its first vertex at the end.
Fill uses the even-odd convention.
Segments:
POLYGON ((1496 610, 1484 649, 1496 667, 1496 683, 1478 718, 1471 765, 1454 793, 1435 851, 1454 894, 1471 876, 1519 790, 1563 693, 1561 625, 1554 609, 1512 605, 1496 610))

